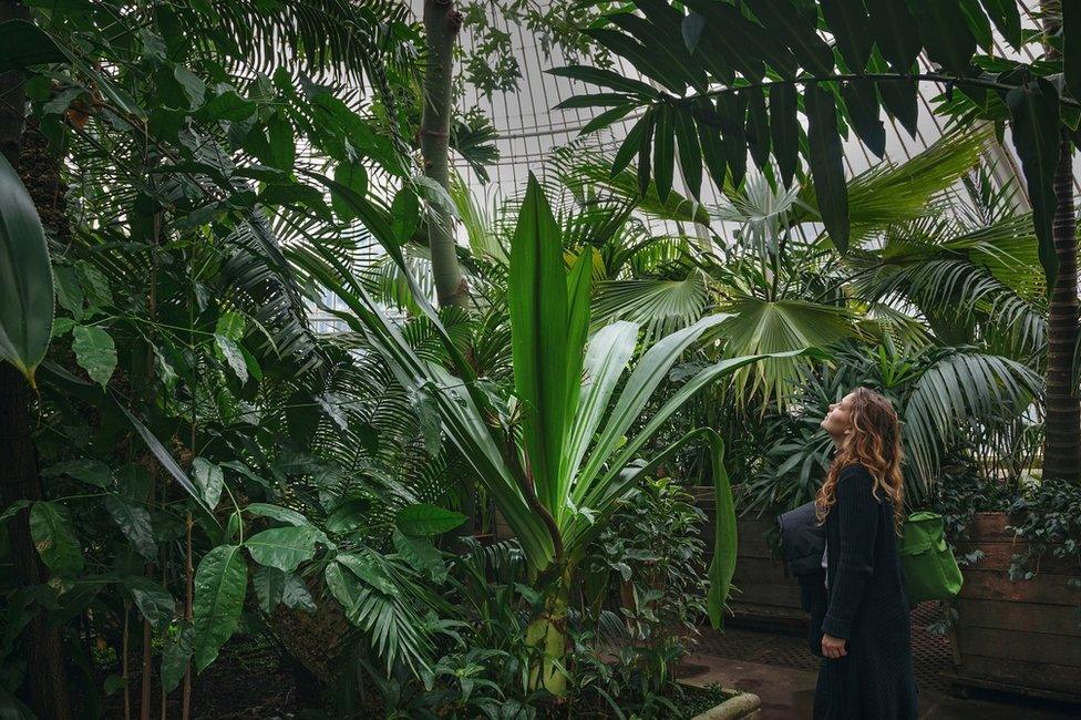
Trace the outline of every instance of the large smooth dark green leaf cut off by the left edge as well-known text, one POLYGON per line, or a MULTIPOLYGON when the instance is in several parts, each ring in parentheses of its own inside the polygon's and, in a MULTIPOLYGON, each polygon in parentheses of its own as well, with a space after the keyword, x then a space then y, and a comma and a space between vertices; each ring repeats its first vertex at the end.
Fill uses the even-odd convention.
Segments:
POLYGON ((0 156, 0 359, 32 385, 52 335, 52 268, 33 200, 0 156))

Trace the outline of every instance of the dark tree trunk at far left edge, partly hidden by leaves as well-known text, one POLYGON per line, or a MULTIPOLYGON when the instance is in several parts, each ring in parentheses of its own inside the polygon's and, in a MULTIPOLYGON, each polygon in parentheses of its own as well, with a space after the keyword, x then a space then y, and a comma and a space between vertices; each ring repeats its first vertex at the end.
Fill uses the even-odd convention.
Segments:
MULTIPOLYGON (((0 22, 29 19, 30 13, 18 0, 0 0, 0 22)), ((0 152, 17 171, 25 122, 25 95, 22 73, 0 74, 0 152)), ((37 198, 35 198, 37 199, 37 198)), ((9 362, 0 361, 0 506, 19 501, 42 500, 38 455, 30 432, 30 387, 9 362)), ((33 539, 28 511, 20 512, 9 524, 14 576, 19 585, 42 585, 49 579, 33 539)), ((39 718, 66 720, 71 717, 68 670, 64 664, 60 628, 50 627, 44 611, 35 613, 24 630, 27 647, 28 700, 39 718)))

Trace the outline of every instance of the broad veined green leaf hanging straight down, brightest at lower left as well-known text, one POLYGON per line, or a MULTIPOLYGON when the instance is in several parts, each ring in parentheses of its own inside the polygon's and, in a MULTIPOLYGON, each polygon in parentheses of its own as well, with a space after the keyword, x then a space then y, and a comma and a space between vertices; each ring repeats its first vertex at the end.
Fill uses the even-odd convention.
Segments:
POLYGON ((202 672, 233 637, 248 584, 248 566, 239 545, 218 545, 207 553, 195 573, 193 604, 195 669, 202 672))

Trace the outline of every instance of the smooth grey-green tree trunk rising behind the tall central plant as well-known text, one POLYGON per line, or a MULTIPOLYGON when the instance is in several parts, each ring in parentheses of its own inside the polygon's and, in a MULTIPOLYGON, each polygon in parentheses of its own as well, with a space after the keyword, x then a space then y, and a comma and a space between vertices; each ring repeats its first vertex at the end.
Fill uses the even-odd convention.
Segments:
MULTIPOLYGON (((453 0, 424 0, 424 32, 428 37, 428 70, 424 73, 424 107, 421 114, 421 155, 424 174, 450 189, 451 81, 454 43, 462 28, 462 13, 453 0)), ((450 215, 441 207, 429 214, 428 239, 432 275, 440 307, 466 307, 470 292, 457 264, 450 215)))

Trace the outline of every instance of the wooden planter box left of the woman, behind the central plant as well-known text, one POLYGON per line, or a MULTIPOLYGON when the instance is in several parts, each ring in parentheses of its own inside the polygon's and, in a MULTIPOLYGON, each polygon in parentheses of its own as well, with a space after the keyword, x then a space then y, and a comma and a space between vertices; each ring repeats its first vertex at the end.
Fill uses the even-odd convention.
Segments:
MULTIPOLYGON (((709 563, 712 560, 713 528, 717 524, 713 488, 698 485, 689 490, 694 495, 694 504, 706 513, 702 538, 709 563)), ((803 632, 810 620, 800 604, 800 584, 785 570, 784 563, 774 557, 766 539, 774 524, 773 517, 756 517, 753 513, 737 521, 739 546, 735 574, 732 576, 734 588, 729 599, 729 607, 734 613, 732 620, 738 625, 803 632)))

